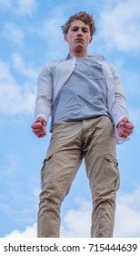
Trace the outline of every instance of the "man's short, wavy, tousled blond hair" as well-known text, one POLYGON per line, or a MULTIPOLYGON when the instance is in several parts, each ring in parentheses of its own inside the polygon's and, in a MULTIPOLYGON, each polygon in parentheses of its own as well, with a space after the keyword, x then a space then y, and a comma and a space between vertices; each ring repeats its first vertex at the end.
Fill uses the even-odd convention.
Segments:
POLYGON ((81 20, 85 22, 86 25, 90 28, 90 35, 93 36, 95 33, 95 19, 92 15, 87 14, 86 12, 80 11, 74 16, 70 16, 69 19, 61 26, 63 34, 67 34, 71 23, 75 20, 81 20))

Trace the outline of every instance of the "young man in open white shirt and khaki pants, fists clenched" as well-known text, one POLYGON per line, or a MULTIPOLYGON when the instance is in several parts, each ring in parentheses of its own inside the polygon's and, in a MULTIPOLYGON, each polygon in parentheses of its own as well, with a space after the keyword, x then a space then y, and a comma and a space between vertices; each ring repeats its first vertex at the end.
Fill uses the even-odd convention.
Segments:
MULTIPOLYGON (((67 59, 45 65, 38 78, 33 132, 52 137, 42 168, 38 237, 59 237, 60 208, 85 159, 93 198, 91 237, 113 237, 119 170, 115 143, 127 140, 128 120, 121 81, 102 56, 88 56, 95 20, 85 12, 62 26, 69 46, 67 59)), ((83 189, 83 188, 82 188, 83 189)))

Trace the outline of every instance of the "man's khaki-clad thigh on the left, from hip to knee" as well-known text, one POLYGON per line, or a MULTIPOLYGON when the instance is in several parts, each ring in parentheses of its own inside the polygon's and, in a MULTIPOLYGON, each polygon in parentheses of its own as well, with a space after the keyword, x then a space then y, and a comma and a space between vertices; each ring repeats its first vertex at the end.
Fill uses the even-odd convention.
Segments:
POLYGON ((77 123, 59 122, 52 133, 42 168, 42 189, 57 187, 64 196, 81 164, 80 129, 77 123))

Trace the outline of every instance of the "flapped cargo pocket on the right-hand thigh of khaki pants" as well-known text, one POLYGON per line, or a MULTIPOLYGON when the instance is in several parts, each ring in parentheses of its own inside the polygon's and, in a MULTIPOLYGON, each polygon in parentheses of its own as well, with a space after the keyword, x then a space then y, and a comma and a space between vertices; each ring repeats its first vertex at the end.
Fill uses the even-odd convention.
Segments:
POLYGON ((113 155, 105 155, 105 186, 115 187, 117 190, 120 187, 120 174, 118 170, 118 162, 113 155))

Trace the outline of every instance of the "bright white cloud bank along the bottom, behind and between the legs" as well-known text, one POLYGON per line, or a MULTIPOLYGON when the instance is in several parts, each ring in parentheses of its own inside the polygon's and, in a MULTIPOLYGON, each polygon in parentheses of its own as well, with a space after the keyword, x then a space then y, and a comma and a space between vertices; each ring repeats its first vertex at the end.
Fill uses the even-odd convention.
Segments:
MULTIPOLYGON (((116 200, 115 238, 140 237, 140 187, 131 193, 120 193, 116 200)), ((61 237, 90 237, 91 203, 82 198, 78 208, 65 212, 61 237)), ((6 238, 36 237, 36 224, 26 227, 23 232, 15 230, 6 238)))

